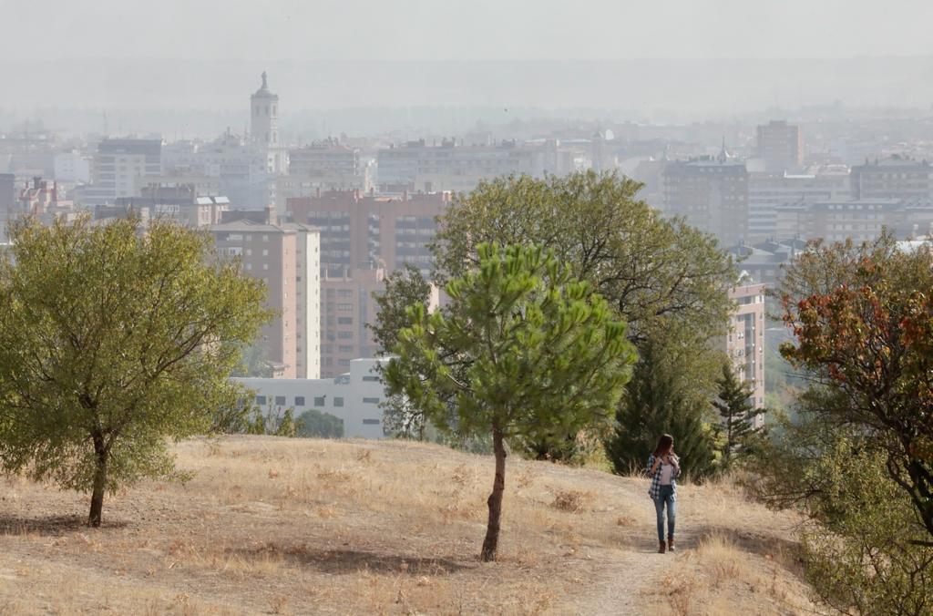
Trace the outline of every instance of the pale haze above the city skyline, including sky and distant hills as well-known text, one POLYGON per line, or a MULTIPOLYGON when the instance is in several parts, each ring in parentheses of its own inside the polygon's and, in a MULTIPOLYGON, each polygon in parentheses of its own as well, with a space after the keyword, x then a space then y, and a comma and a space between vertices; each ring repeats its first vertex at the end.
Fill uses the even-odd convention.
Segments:
POLYGON ((36 44, 34 28, 11 27, 0 41, 8 92, 0 122, 41 109, 53 124, 88 124, 82 112, 107 109, 126 118, 125 130, 208 136, 223 128, 211 114, 232 121, 240 84, 262 70, 292 114, 324 112, 316 122, 292 119, 296 129, 320 130, 323 117, 334 133, 402 128, 405 119, 366 111, 386 107, 445 108, 415 121, 449 131, 545 110, 677 121, 933 100, 924 25, 933 9, 912 0, 7 0, 4 12, 8 24, 41 16, 43 35, 36 44))

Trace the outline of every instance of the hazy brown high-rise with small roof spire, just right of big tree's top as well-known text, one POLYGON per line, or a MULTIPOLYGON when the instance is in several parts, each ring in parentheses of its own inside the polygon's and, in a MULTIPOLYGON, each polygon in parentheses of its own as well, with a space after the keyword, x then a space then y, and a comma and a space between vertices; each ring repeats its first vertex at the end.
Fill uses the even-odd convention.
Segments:
POLYGON ((725 245, 748 234, 748 172, 744 161, 729 157, 669 162, 662 174, 661 211, 717 236, 725 245))

